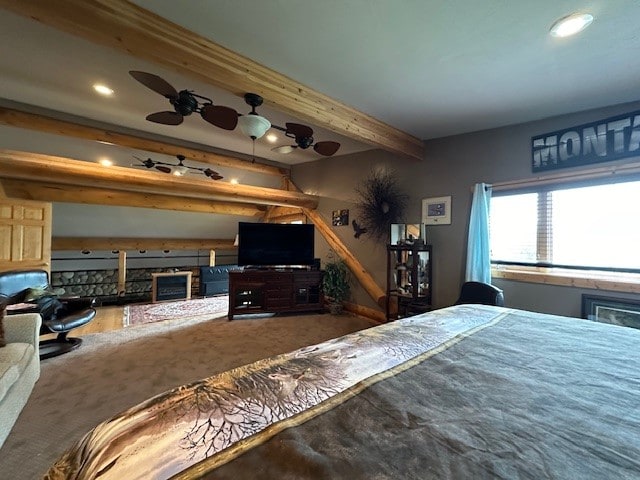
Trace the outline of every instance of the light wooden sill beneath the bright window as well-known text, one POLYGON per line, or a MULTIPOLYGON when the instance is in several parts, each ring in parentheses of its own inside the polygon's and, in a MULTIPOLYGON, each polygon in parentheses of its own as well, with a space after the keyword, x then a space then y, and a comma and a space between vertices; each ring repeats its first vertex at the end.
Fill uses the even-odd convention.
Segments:
POLYGON ((492 266, 491 276, 516 282, 640 293, 640 274, 561 268, 492 266))

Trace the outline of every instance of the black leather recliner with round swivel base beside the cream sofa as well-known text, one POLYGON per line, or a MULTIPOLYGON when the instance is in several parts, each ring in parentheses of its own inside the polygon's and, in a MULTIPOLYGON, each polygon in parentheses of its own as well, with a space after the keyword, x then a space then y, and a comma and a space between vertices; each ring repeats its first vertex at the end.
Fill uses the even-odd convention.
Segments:
POLYGON ((81 338, 71 338, 71 330, 86 325, 96 316, 95 298, 59 297, 51 293, 49 274, 45 270, 11 270, 0 272, 0 296, 9 305, 23 304, 7 313, 39 313, 42 317, 40 335, 56 333, 54 339, 40 342, 40 359, 55 357, 80 346, 81 338), (47 292, 38 299, 29 296, 34 291, 47 292))

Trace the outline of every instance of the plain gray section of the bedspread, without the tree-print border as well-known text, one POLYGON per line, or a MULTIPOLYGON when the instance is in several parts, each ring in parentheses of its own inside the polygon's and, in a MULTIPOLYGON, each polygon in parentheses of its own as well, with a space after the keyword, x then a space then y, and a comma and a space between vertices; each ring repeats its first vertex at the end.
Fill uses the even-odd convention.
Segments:
POLYGON ((515 311, 202 478, 640 478, 640 332, 515 311))

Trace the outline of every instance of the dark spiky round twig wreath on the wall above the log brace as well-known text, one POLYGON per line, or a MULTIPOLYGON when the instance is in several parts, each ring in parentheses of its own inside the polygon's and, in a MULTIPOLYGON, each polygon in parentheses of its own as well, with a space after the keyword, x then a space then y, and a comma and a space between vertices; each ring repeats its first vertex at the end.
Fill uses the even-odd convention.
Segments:
POLYGON ((388 243, 391 224, 404 215, 409 196, 402 193, 392 171, 372 171, 356 188, 362 223, 374 239, 388 243))

